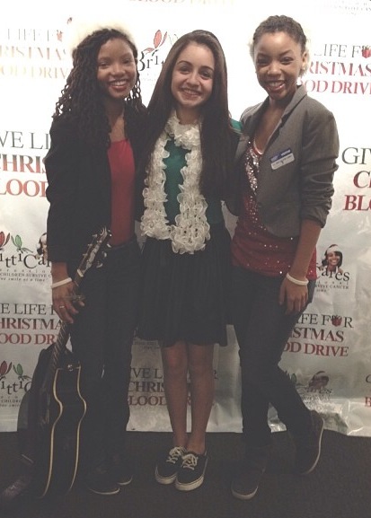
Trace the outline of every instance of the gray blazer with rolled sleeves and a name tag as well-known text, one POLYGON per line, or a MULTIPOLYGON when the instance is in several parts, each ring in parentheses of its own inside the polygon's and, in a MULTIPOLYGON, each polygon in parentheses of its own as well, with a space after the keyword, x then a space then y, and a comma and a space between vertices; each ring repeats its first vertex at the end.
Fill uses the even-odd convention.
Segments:
MULTIPOLYGON (((231 196, 225 200, 234 215, 239 215, 242 202, 243 154, 268 102, 248 108, 241 117, 243 132, 235 154, 231 196)), ((324 226, 338 155, 339 136, 331 111, 310 98, 304 85, 299 86, 261 158, 256 197, 261 221, 270 233, 297 236, 303 219, 324 226)))

